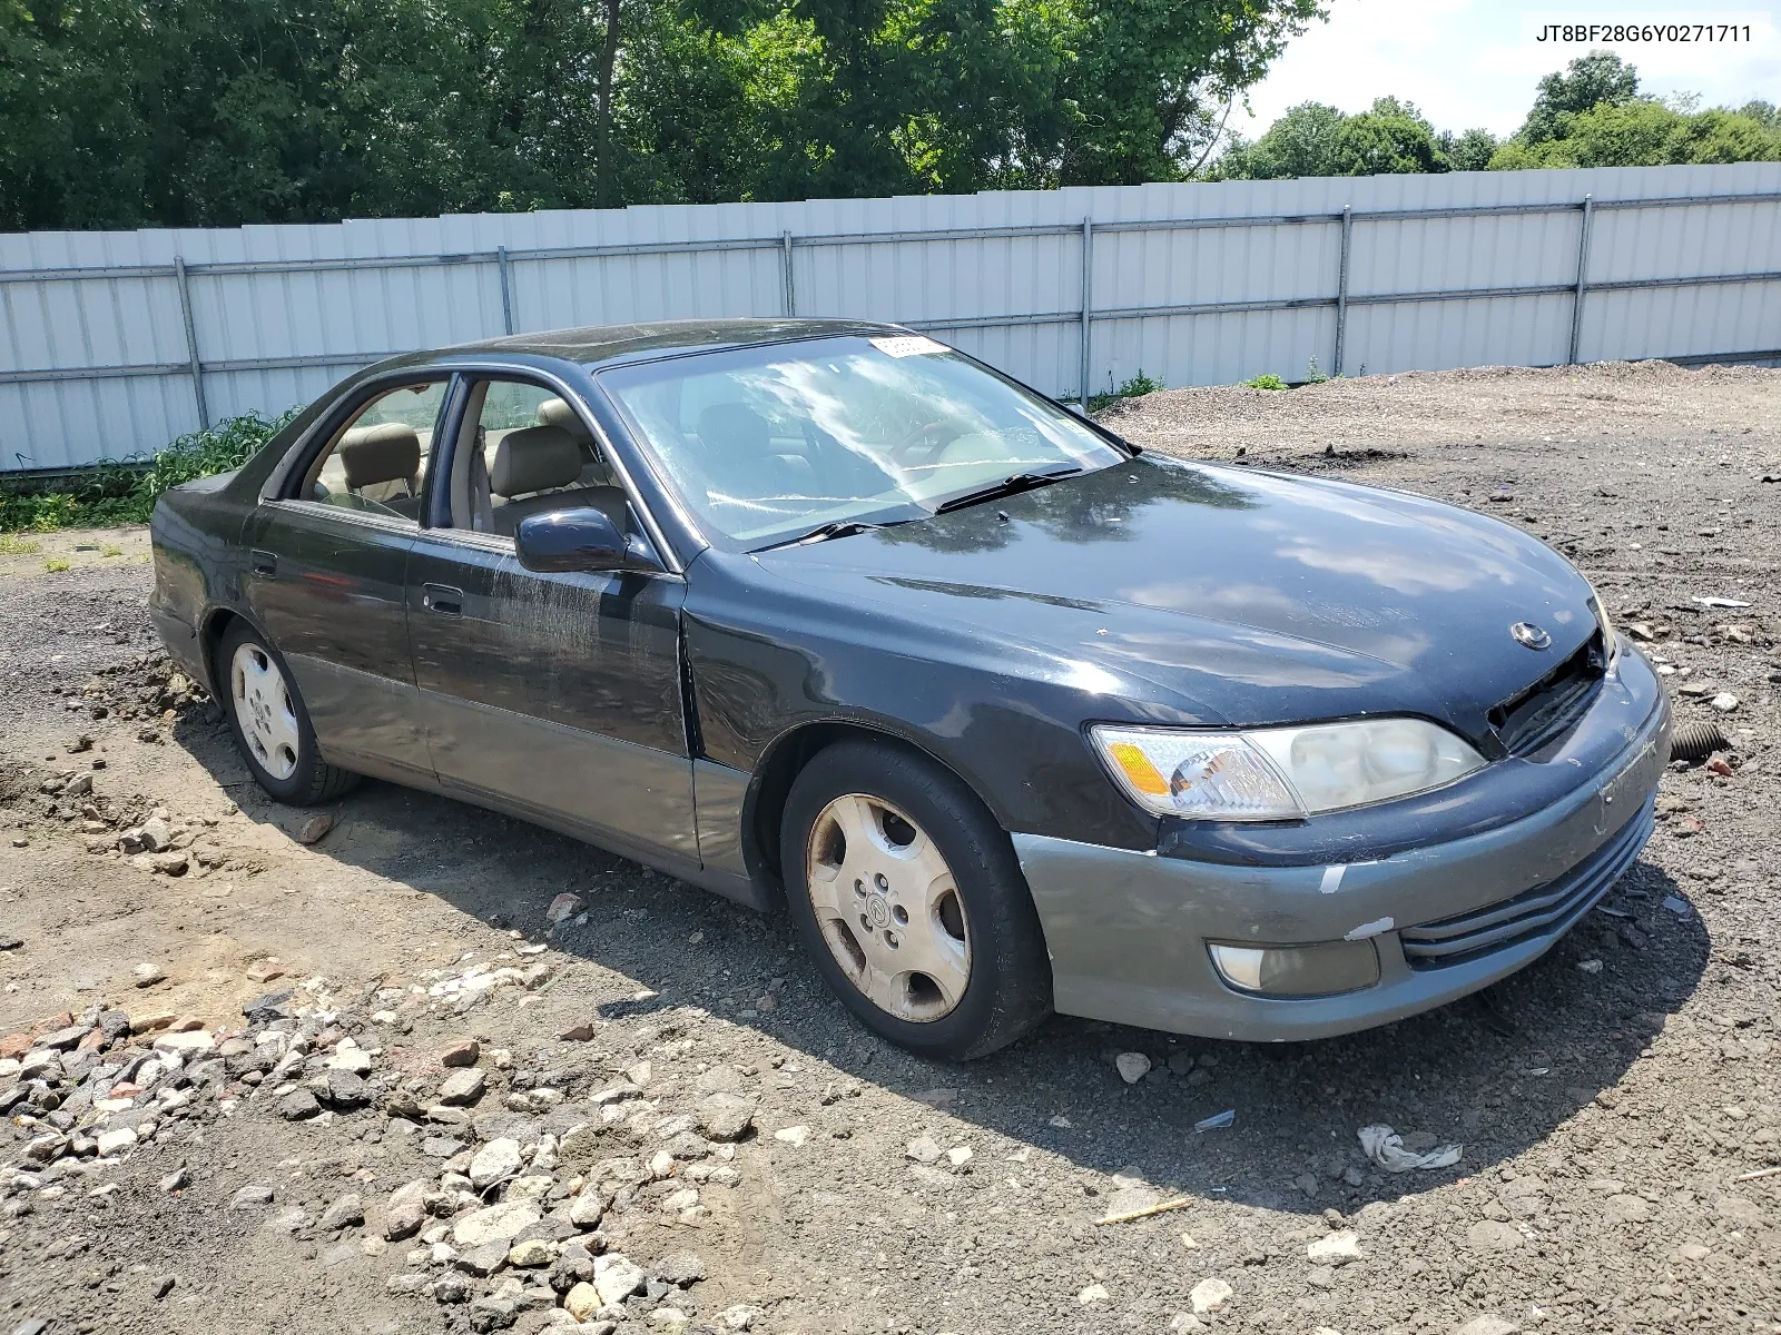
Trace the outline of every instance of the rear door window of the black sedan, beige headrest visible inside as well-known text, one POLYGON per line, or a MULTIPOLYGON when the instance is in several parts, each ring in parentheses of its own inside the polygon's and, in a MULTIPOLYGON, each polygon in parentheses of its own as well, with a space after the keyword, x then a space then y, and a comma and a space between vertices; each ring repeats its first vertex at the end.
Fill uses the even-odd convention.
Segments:
POLYGON ((445 381, 386 390, 335 433, 310 465, 308 500, 385 518, 420 522, 420 493, 445 381))

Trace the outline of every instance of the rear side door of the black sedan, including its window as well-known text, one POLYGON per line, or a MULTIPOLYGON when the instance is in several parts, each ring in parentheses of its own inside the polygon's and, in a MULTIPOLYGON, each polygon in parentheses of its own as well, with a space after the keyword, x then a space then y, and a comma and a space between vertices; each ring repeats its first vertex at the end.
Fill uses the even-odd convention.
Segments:
POLYGON ((242 530, 248 609, 290 666, 322 756, 401 781, 433 780, 406 580, 447 383, 367 392, 242 530))

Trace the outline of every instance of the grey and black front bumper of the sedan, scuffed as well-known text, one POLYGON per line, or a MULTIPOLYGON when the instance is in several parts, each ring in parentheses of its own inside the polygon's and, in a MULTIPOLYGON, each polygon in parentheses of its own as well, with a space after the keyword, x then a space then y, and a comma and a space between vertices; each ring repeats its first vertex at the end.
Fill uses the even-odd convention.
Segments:
POLYGON ((1309 867, 1190 862, 1042 835, 1015 835, 1013 846, 1061 1013, 1208 1038, 1327 1038, 1464 997, 1549 951, 1639 858, 1667 762, 1669 703, 1649 664, 1626 653, 1541 762, 1576 767, 1576 787, 1485 833, 1309 867), (1334 997, 1238 991, 1208 954, 1208 942, 1357 936, 1378 951, 1378 983, 1334 997))

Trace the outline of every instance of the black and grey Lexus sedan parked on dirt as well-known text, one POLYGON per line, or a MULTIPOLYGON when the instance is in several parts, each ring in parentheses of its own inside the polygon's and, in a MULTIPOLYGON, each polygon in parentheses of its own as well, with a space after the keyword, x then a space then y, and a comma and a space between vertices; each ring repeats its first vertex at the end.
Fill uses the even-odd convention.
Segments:
POLYGON ((878 324, 395 358, 153 543, 272 797, 372 774, 784 906, 942 1057, 1475 991, 1639 856, 1669 758, 1649 664, 1519 530, 1143 452, 878 324))

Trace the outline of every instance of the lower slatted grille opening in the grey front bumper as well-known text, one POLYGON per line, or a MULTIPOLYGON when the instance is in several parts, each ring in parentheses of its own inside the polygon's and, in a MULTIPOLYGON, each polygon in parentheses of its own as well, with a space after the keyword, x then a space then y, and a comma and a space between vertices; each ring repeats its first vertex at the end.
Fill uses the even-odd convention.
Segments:
POLYGON ((1403 958, 1411 968, 1441 968, 1530 936, 1558 936, 1569 931, 1633 865, 1639 849, 1651 837, 1653 824, 1656 813, 1651 803, 1646 803, 1621 833, 1557 881, 1471 913, 1405 927, 1398 933, 1403 958))

